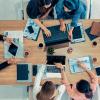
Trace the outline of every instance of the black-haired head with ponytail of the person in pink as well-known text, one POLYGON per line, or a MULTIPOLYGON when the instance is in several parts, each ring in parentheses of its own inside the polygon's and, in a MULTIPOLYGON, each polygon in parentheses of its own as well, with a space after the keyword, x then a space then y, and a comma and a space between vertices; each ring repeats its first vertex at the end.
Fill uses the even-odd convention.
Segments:
POLYGON ((92 93, 92 89, 90 87, 90 84, 88 81, 86 80, 80 80, 77 84, 76 84, 76 89, 80 92, 80 93, 84 93, 86 98, 92 98, 93 97, 93 93, 92 93))

